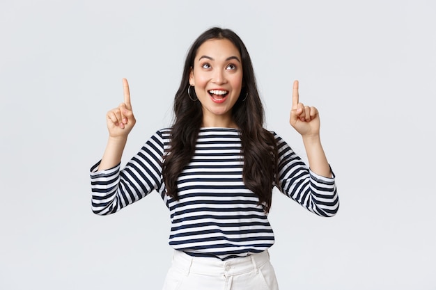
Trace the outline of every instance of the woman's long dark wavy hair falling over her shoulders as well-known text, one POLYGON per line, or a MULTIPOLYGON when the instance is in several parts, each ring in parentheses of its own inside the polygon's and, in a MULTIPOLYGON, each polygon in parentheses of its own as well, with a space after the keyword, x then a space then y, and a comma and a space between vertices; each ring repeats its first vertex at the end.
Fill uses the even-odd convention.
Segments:
MULTIPOLYGON (((198 131, 203 121, 200 102, 193 102, 188 95, 189 72, 194 58, 205 41, 227 39, 239 50, 242 58, 242 90, 232 108, 235 124, 240 129, 244 156, 243 181, 269 211, 272 185, 277 184, 277 143, 270 131, 263 128, 264 111, 260 101, 251 58, 242 40, 230 29, 214 27, 202 33, 188 51, 180 87, 174 98, 174 122, 169 151, 164 154, 162 175, 166 194, 178 200, 177 179, 194 155, 198 131)), ((192 90, 194 92, 194 90, 192 90)), ((191 95, 193 95, 191 92, 191 95)))

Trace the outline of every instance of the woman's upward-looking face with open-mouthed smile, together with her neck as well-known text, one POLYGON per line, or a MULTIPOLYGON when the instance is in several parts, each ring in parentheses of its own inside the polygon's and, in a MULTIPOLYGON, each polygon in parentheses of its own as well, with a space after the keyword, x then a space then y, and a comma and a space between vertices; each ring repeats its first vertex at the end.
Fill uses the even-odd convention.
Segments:
POLYGON ((242 89, 242 59, 230 40, 212 39, 198 47, 189 84, 203 108, 203 127, 236 127, 231 110, 242 89))

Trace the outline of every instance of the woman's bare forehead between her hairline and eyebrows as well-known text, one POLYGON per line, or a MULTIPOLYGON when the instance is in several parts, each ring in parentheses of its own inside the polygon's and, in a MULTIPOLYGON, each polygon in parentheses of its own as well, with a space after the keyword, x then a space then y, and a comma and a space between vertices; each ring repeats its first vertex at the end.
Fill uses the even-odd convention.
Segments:
POLYGON ((230 40, 223 39, 210 39, 203 42, 200 47, 198 47, 196 59, 201 58, 201 56, 210 56, 211 58, 219 60, 220 58, 228 58, 229 56, 237 56, 241 58, 238 48, 233 45, 230 40))

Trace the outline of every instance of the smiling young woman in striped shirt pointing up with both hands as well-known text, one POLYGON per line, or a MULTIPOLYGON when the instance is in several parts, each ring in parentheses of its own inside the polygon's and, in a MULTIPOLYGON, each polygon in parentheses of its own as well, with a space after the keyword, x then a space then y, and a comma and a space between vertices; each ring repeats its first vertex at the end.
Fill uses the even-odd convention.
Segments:
POLYGON ((338 196, 320 142, 320 118, 293 86, 290 124, 302 135, 309 167, 263 128, 263 106, 247 48, 212 28, 192 45, 174 99, 175 119, 121 170, 135 124, 127 80, 124 102, 107 113, 109 140, 91 168, 95 214, 114 214, 157 191, 169 208, 175 249, 165 290, 278 289, 268 248, 272 188, 319 216, 334 216, 338 196), (310 168, 310 169, 309 169, 310 168))

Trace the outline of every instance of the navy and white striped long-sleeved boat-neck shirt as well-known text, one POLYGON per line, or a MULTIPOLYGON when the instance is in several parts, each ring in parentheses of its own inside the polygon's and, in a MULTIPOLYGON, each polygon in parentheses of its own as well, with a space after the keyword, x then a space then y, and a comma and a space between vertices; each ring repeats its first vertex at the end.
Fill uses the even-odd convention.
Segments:
MULTIPOLYGON (((169 208, 169 244, 188 255, 229 259, 267 250, 274 234, 256 195, 242 182, 240 131, 202 128, 191 162, 178 177, 179 200, 166 195, 162 156, 171 129, 157 131, 126 164, 97 171, 91 168, 92 209, 114 214, 152 191, 169 208)), ((338 196, 334 177, 316 175, 277 134, 279 191, 319 216, 334 216, 338 196)))

